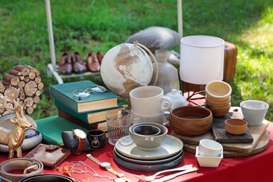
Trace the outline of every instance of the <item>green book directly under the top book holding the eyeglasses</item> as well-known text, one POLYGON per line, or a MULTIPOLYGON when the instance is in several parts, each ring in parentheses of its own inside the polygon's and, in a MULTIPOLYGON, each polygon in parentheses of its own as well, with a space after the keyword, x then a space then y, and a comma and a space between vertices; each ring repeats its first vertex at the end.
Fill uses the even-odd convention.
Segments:
POLYGON ((117 106, 111 109, 104 109, 99 111, 90 111, 85 113, 76 113, 72 109, 69 109, 65 104, 62 104, 62 102, 59 102, 57 99, 55 99, 55 106, 57 106, 58 109, 62 109, 62 111, 69 113, 71 116, 74 116, 85 123, 93 124, 93 123, 101 123, 102 121, 106 120, 106 113, 108 111, 121 111, 123 109, 123 106, 117 106))

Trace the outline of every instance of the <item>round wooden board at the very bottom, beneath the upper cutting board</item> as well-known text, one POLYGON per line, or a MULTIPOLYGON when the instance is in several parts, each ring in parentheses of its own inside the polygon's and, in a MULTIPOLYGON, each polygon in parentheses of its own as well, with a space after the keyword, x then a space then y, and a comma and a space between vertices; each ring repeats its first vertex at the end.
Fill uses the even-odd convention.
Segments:
MULTIPOLYGON (((225 151, 224 150, 223 156, 224 156, 224 158, 238 158, 238 157, 245 157, 248 155, 254 155, 256 153, 260 153, 262 151, 265 151, 267 146, 269 146, 269 141, 270 141, 270 134, 268 131, 265 131, 265 133, 262 134, 260 141, 258 141, 258 144, 254 147, 253 151, 251 151, 250 153, 239 153, 239 152, 235 152, 235 151, 225 151)), ((184 143, 183 150, 188 151, 190 153, 195 153, 196 152, 196 145, 184 143)))

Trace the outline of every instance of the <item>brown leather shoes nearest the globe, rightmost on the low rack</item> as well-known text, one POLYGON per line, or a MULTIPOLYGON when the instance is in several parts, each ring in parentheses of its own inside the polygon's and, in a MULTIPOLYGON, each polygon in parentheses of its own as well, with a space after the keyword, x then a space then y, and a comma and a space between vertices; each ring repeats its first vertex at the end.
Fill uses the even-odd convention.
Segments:
POLYGON ((104 58, 104 54, 102 52, 88 53, 86 56, 87 69, 91 72, 100 71, 103 58, 104 58))

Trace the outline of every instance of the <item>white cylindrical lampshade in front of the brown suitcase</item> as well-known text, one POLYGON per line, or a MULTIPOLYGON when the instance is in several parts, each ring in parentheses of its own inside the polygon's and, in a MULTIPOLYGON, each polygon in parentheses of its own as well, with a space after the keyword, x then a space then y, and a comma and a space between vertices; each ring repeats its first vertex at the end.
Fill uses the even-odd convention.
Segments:
POLYGON ((225 41, 215 36, 186 36, 181 38, 181 80, 206 85, 223 80, 225 41))

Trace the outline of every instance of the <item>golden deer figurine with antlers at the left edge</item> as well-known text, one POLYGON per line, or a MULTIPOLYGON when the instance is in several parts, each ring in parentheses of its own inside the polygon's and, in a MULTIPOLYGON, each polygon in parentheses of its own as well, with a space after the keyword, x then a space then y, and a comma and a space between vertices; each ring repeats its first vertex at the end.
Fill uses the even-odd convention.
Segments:
POLYGON ((24 107, 27 104, 27 100, 25 100, 24 104, 20 105, 15 100, 15 96, 12 94, 12 99, 8 100, 8 98, 1 97, 2 108, 9 109, 11 111, 15 111, 15 118, 10 118, 10 122, 14 123, 14 129, 11 132, 6 132, 0 130, 0 144, 8 146, 8 158, 13 158, 14 151, 16 150, 16 154, 18 158, 22 158, 22 142, 25 139, 25 128, 31 127, 31 124, 28 122, 25 117, 24 107), (13 104, 13 106, 8 106, 8 103, 13 104))

